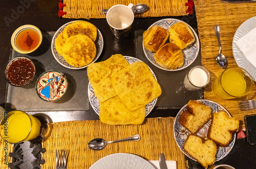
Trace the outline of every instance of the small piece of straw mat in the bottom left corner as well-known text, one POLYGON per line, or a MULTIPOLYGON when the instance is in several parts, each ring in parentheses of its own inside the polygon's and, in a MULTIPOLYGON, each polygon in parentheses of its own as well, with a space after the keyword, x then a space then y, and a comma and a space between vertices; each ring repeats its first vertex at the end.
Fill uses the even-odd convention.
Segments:
POLYGON ((14 144, 4 142, 3 138, 0 137, 0 168, 7 169, 8 162, 11 162, 11 158, 8 156, 12 152, 14 144), (6 162, 6 156, 8 161, 6 162))

